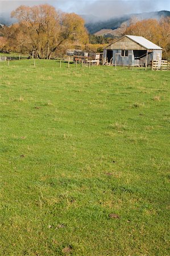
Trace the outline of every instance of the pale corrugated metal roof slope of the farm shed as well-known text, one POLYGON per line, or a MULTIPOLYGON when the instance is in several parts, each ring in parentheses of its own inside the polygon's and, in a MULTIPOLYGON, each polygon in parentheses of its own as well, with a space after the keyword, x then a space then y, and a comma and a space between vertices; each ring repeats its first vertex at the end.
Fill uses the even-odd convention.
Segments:
POLYGON ((140 46, 143 46, 146 49, 162 49, 161 47, 156 46, 156 44, 147 40, 146 38, 143 38, 143 36, 131 36, 131 35, 126 35, 126 36, 127 38, 132 39, 134 42, 140 44, 140 46))

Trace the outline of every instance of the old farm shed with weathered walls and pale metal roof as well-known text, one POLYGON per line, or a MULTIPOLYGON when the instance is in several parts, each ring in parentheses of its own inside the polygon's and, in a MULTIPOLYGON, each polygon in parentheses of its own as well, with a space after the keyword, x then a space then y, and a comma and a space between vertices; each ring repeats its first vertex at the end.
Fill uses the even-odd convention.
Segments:
POLYGON ((159 60, 161 65, 162 48, 143 38, 125 35, 103 50, 103 65, 143 66, 159 60))

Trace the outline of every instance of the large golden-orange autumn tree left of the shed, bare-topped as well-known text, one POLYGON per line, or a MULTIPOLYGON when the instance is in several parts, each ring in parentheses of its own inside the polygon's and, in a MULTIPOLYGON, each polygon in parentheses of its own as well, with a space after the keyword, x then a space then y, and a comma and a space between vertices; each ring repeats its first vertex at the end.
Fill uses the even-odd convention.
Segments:
POLYGON ((20 6, 11 16, 19 22, 16 43, 34 51, 37 58, 51 59, 64 44, 88 42, 84 20, 76 14, 57 12, 53 6, 20 6))

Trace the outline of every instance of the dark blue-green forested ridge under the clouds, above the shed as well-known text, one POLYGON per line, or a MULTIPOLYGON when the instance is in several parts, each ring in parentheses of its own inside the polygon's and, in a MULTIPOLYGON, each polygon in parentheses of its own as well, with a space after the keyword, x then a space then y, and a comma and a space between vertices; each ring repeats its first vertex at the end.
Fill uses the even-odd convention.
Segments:
MULTIPOLYGON (((142 14, 130 14, 125 15, 119 18, 113 18, 101 22, 87 22, 86 28, 88 29, 90 34, 94 34, 99 30, 102 29, 111 29, 115 30, 116 28, 120 27, 123 22, 128 22, 132 16, 135 16, 136 18, 140 19, 159 19, 161 16, 170 16, 170 11, 154 11, 151 13, 142 13, 142 14)), ((85 18, 85 16, 83 17, 85 18)))

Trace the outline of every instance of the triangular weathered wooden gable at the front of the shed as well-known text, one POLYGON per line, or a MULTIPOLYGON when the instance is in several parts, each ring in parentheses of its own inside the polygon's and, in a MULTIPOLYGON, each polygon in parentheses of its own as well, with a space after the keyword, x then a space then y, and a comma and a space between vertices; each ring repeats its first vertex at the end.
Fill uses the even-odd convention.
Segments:
POLYGON ((138 43, 133 42, 129 38, 122 38, 118 40, 117 42, 111 44, 110 46, 107 46, 106 49, 133 49, 133 50, 142 50, 146 49, 142 46, 140 46, 138 43))

